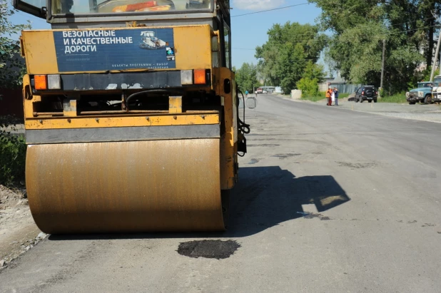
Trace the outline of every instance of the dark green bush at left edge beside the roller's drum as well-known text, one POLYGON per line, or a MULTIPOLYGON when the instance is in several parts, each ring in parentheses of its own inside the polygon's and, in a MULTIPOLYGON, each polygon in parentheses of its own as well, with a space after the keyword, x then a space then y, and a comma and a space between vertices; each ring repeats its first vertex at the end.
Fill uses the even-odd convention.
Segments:
POLYGON ((21 135, 14 135, 19 120, 0 117, 0 185, 10 186, 24 179, 26 143, 21 135))

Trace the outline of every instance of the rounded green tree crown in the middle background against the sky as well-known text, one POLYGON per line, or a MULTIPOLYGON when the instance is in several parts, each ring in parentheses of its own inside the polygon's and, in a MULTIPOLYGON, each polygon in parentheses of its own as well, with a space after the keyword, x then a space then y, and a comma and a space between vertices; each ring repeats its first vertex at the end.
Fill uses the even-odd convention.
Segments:
POLYGON ((285 93, 300 81, 307 61, 315 63, 325 46, 327 37, 319 27, 287 22, 274 24, 268 30, 268 41, 255 50, 258 68, 266 81, 281 86, 285 93))

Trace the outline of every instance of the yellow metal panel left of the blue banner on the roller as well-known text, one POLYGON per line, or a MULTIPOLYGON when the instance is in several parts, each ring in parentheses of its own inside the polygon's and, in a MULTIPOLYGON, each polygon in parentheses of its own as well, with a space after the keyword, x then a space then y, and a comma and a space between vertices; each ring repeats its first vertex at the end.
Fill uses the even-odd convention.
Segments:
POLYGON ((23 31, 22 37, 29 74, 59 72, 53 31, 23 31))

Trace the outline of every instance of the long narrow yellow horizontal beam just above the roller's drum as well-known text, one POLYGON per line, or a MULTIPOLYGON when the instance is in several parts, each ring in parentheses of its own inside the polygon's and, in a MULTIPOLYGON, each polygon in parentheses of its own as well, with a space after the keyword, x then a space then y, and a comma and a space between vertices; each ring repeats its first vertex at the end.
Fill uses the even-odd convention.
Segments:
POLYGON ((33 118, 26 119, 26 129, 97 128, 163 125, 218 124, 218 114, 205 115, 143 115, 78 118, 33 118), (148 118, 148 119, 147 119, 148 118))

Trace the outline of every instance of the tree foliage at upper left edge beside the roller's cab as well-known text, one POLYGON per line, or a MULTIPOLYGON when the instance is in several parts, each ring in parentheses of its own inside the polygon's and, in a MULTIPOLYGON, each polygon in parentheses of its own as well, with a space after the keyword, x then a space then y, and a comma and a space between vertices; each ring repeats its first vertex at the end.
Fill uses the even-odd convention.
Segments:
POLYGON ((21 78, 26 71, 20 58, 20 44, 12 38, 23 29, 30 29, 29 24, 12 24, 9 16, 15 13, 9 9, 6 0, 0 0, 0 85, 2 88, 16 88, 21 85, 21 78))

